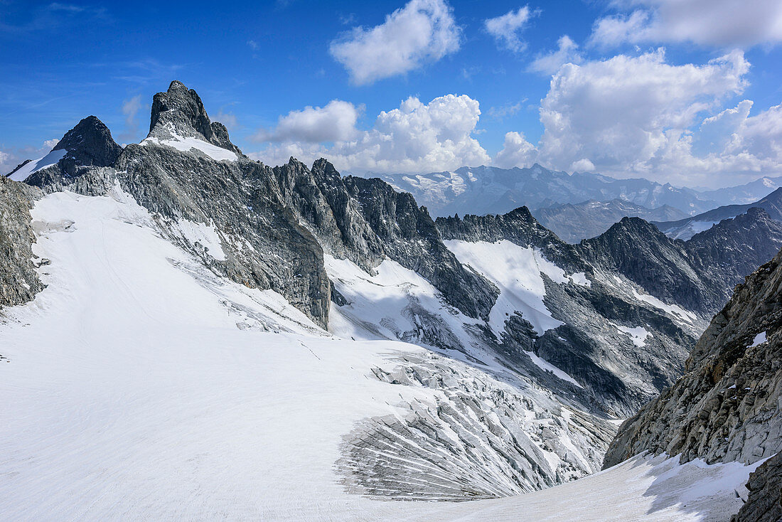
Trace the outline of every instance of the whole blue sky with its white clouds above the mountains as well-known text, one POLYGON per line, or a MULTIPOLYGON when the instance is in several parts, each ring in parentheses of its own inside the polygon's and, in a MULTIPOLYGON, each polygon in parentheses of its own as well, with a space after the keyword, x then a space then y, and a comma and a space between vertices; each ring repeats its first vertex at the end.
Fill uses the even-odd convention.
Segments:
POLYGON ((0 0, 0 170, 88 114, 138 142, 178 79, 272 164, 734 185, 782 175, 780 33, 777 0, 0 0))

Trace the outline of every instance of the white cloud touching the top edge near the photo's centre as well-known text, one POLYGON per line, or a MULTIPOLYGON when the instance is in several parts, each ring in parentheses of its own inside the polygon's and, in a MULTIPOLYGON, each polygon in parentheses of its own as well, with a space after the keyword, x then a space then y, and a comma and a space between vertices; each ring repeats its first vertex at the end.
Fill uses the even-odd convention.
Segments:
POLYGON ((405 74, 457 52, 461 29, 443 0, 411 0, 382 24, 353 31, 331 42, 329 51, 357 85, 405 74))

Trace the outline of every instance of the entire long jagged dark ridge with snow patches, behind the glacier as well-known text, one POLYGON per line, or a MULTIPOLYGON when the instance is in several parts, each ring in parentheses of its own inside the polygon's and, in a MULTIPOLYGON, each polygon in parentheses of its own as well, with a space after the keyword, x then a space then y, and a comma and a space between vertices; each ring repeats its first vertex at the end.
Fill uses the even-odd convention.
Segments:
MULTIPOLYGON (((249 159, 179 81, 154 96, 141 143, 122 148, 87 117, 9 177, 45 193, 102 195, 118 185, 213 272, 282 294, 322 328, 339 322, 368 338, 458 351, 598 416, 628 416, 673 384, 732 286, 782 247, 782 230, 762 211, 687 243, 633 218, 571 245, 526 207, 435 222, 411 194, 341 176, 327 160, 249 159), (746 245, 752 256, 738 263, 746 245), (389 266, 409 272, 389 283, 389 266), (361 308, 367 282, 396 293, 361 308)), ((24 213, 36 189, 3 182, 24 213)), ((16 221, 29 250, 29 219, 16 221)), ((7 304, 40 290, 30 256, 15 251, 12 272, 22 275, 12 279, 30 288, 13 290, 21 293, 7 304)))

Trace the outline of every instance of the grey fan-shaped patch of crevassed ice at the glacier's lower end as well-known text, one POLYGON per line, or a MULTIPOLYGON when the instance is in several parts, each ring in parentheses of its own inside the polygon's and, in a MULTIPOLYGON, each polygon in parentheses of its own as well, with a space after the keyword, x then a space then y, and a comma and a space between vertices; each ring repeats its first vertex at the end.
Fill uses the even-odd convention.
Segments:
POLYGON ((554 416, 473 369, 406 356, 375 377, 438 390, 405 416, 370 417, 345 437, 335 467, 346 491, 381 499, 464 501, 520 495, 597 471, 612 429, 563 408, 554 416))

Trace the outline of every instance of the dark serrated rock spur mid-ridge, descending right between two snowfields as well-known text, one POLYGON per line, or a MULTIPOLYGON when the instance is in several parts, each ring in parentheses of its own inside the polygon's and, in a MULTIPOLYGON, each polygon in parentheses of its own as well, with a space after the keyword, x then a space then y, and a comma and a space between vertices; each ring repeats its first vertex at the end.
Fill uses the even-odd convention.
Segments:
POLYGON ((343 178, 317 160, 312 171, 291 160, 271 169, 285 203, 329 254, 372 272, 389 257, 428 279, 469 317, 486 317, 497 289, 468 272, 448 250, 425 208, 379 179, 343 178))

